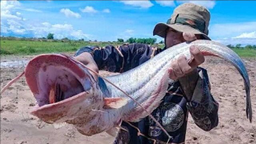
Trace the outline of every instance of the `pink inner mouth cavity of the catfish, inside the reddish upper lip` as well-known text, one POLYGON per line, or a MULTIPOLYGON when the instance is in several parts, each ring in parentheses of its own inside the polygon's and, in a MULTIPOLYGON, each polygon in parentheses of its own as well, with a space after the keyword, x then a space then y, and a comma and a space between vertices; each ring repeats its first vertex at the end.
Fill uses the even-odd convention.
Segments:
POLYGON ((38 79, 42 91, 36 96, 39 106, 60 102, 84 91, 79 80, 61 66, 47 66, 45 71, 40 69, 38 79))

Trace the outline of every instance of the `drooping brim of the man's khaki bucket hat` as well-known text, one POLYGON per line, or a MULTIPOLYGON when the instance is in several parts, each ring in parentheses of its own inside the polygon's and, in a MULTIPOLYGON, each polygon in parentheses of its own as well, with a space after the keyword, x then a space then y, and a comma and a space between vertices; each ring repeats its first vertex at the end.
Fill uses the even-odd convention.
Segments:
POLYGON ((153 35, 161 36, 162 38, 165 38, 166 36, 166 30, 167 28, 172 28, 178 32, 188 32, 192 34, 200 34, 204 36, 206 40, 211 40, 206 34, 200 32, 199 30, 196 30, 195 28, 192 28, 191 26, 185 25, 185 24, 166 24, 166 23, 158 23, 156 24, 153 35))

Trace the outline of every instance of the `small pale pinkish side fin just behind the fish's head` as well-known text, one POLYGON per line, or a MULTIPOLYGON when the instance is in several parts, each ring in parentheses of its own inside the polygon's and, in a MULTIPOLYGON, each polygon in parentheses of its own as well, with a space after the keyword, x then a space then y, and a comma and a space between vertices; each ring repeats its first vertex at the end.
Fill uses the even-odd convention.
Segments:
POLYGON ((128 102, 127 98, 104 98, 105 109, 121 108, 128 102))

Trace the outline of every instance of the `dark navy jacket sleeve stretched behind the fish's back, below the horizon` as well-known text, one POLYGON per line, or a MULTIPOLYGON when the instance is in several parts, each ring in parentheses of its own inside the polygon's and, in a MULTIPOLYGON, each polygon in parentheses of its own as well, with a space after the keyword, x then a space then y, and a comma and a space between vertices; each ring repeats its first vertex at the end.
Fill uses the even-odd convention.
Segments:
POLYGON ((146 62, 152 56, 160 52, 159 48, 153 48, 147 44, 129 44, 122 46, 86 46, 80 48, 75 56, 82 52, 92 54, 99 70, 110 72, 125 72, 146 62))

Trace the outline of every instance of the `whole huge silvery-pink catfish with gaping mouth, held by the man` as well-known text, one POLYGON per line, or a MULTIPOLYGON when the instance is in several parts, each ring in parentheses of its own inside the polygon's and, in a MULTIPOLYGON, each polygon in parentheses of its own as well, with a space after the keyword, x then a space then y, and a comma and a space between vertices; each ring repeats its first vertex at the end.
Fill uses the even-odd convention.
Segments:
POLYGON ((90 69, 72 57, 36 56, 24 70, 38 104, 32 114, 47 123, 73 124, 88 136, 120 126, 122 120, 138 122, 159 106, 170 80, 167 69, 181 54, 189 60, 192 45, 204 56, 223 58, 236 67, 244 79, 246 116, 251 122, 250 81, 244 63, 230 48, 209 40, 172 46, 132 70, 98 80, 90 69))

